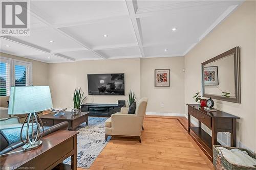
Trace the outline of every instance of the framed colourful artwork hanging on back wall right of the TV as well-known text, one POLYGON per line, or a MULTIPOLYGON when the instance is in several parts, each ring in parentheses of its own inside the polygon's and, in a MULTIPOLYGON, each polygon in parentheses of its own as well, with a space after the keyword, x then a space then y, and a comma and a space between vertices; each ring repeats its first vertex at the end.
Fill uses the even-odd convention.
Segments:
POLYGON ((155 69, 155 87, 170 86, 170 69, 155 69))

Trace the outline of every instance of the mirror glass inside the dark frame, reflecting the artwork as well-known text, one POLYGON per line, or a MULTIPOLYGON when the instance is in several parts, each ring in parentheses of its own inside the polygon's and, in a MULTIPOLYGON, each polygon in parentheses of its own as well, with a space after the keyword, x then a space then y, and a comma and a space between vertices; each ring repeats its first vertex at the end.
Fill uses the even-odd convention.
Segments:
POLYGON ((203 78, 205 94, 236 98, 234 54, 203 65, 203 78))

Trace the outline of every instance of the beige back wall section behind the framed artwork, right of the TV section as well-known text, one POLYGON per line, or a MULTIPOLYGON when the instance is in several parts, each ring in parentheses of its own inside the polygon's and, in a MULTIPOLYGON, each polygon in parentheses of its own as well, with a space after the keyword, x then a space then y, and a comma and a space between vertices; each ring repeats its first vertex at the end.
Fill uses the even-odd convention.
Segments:
POLYGON ((147 112, 158 115, 184 115, 183 68, 184 57, 141 59, 141 96, 150 99, 147 112), (155 87, 155 69, 168 68, 170 69, 170 87, 155 87))

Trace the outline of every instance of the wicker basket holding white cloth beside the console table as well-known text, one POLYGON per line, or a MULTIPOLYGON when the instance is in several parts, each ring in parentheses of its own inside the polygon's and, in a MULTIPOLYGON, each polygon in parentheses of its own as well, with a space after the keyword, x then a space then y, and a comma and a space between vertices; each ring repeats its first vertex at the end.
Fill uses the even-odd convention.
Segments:
MULTIPOLYGON (((217 151, 217 147, 223 147, 223 148, 226 148, 228 150, 231 150, 231 149, 236 149, 236 148, 232 148, 232 147, 224 147, 224 146, 221 146, 221 145, 214 145, 213 147, 213 155, 214 155, 214 158, 213 158, 213 161, 214 161, 214 166, 216 167, 216 170, 255 170, 256 167, 245 167, 245 166, 239 166, 239 165, 236 165, 236 164, 231 164, 229 163, 222 155, 220 155, 217 151)), ((245 149, 241 149, 241 148, 238 148, 239 150, 241 151, 246 151, 250 157, 256 159, 256 155, 252 154, 250 151, 248 150, 245 150, 245 149)))

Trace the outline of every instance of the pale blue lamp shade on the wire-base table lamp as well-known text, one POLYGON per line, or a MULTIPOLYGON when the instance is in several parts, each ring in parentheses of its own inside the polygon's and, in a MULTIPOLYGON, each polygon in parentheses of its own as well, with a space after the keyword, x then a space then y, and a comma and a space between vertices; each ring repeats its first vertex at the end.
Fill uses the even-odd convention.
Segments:
POLYGON ((8 114, 25 114, 53 108, 49 86, 11 87, 8 114))

